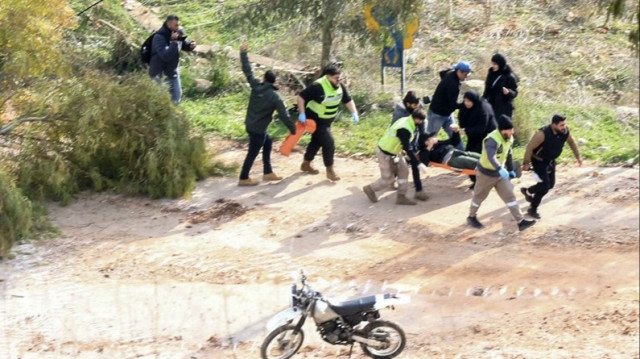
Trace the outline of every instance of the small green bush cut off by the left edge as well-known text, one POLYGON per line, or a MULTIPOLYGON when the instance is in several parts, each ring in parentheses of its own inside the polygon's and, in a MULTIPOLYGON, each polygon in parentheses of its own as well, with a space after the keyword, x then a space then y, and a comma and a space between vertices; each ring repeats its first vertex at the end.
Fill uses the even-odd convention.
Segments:
POLYGON ((31 202, 0 172, 0 257, 9 254, 13 244, 29 233, 31 202))

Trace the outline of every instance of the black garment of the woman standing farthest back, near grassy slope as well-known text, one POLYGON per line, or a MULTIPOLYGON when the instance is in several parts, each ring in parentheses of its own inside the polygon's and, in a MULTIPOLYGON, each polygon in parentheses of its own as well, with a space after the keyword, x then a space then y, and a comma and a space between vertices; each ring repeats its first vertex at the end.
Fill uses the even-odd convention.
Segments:
POLYGON ((498 71, 489 69, 482 97, 489 101, 496 118, 500 115, 513 116, 513 99, 516 96, 518 96, 518 77, 513 73, 511 67, 505 65, 498 71), (507 95, 502 92, 503 87, 509 89, 507 95))

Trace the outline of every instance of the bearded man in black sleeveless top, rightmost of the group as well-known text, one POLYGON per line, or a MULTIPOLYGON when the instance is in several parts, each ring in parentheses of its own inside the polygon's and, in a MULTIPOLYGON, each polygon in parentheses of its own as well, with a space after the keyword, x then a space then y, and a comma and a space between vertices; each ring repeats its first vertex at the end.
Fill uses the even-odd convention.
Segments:
POLYGON ((565 142, 569 143, 573 155, 578 161, 578 166, 582 166, 582 156, 578 149, 578 144, 571 137, 566 118, 562 115, 553 115, 551 124, 544 126, 533 135, 524 153, 523 170, 528 170, 533 165, 538 183, 529 188, 521 188, 527 202, 531 207, 527 213, 533 218, 540 218, 538 206, 542 197, 546 195, 556 183, 556 158, 562 154, 565 142))

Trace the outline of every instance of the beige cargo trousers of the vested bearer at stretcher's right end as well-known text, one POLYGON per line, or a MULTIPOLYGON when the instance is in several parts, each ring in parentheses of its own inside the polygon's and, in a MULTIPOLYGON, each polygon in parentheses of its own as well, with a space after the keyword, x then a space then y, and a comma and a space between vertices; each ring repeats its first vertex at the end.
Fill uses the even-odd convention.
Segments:
POLYGON ((480 171, 476 171, 476 186, 473 188, 473 198, 471 199, 471 206, 469 207, 469 217, 475 217, 478 213, 478 209, 482 202, 487 199, 491 189, 495 188, 498 192, 498 196, 502 198, 502 201, 507 205, 509 212, 520 223, 524 219, 520 206, 516 200, 516 195, 513 193, 513 185, 508 179, 502 177, 487 176, 480 171))

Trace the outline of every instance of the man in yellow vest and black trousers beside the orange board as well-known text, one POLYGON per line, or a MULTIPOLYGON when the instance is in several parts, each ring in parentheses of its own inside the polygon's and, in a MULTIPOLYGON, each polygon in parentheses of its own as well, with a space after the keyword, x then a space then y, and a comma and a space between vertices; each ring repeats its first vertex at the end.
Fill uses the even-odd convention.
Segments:
POLYGON ((311 142, 307 146, 300 170, 314 175, 320 173, 311 165, 311 161, 322 148, 322 161, 327 168, 327 178, 331 181, 340 180, 333 169, 333 156, 336 148, 331 134, 331 123, 338 114, 340 103, 347 106, 354 124, 360 120, 356 105, 349 96, 347 87, 340 82, 340 74, 341 71, 337 67, 327 66, 322 71, 322 77, 298 95, 298 108, 300 109, 298 121, 302 124, 306 122, 307 118, 316 121, 316 130, 311 135, 311 142))

